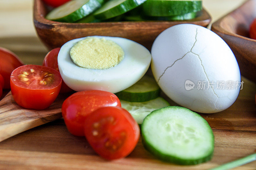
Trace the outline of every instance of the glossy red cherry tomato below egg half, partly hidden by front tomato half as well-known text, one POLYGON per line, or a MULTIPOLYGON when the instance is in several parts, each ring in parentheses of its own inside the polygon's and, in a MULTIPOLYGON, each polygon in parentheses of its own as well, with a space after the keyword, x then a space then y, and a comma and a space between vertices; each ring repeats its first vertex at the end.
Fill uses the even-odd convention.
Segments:
POLYGON ((69 96, 61 108, 68 131, 76 136, 84 136, 85 117, 105 106, 121 107, 121 103, 113 93, 101 90, 80 91, 69 96))

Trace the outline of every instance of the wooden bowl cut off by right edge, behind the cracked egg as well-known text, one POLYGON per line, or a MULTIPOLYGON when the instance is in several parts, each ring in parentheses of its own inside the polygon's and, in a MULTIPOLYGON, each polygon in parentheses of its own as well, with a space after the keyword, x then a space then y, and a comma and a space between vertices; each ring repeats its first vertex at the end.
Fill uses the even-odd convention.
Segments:
POLYGON ((241 74, 256 82, 256 40, 249 38, 249 28, 256 18, 256 0, 248 0, 236 10, 212 24, 236 56, 241 74))

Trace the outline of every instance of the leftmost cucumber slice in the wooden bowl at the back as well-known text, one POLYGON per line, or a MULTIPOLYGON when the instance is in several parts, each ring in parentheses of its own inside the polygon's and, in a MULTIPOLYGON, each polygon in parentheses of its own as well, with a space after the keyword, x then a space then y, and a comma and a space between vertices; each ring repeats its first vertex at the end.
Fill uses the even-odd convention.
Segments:
POLYGON ((75 22, 92 13, 103 3, 103 0, 71 0, 54 8, 45 18, 60 22, 75 22))

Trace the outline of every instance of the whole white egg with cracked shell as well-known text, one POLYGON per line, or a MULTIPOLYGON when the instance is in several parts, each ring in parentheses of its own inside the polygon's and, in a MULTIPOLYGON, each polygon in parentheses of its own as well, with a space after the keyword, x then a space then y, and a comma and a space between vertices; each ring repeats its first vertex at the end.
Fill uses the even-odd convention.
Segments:
POLYGON ((154 77, 174 102, 201 113, 235 102, 242 86, 239 67, 214 32, 193 24, 172 26, 156 38, 151 54, 154 77))

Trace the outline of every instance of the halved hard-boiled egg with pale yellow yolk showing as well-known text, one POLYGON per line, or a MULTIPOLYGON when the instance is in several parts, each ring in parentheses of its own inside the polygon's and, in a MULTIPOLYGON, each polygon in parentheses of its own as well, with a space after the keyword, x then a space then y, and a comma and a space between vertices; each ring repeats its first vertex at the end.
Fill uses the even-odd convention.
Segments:
POLYGON ((120 37, 73 39, 58 55, 61 77, 75 91, 122 91, 140 80, 150 62, 147 48, 120 37))

